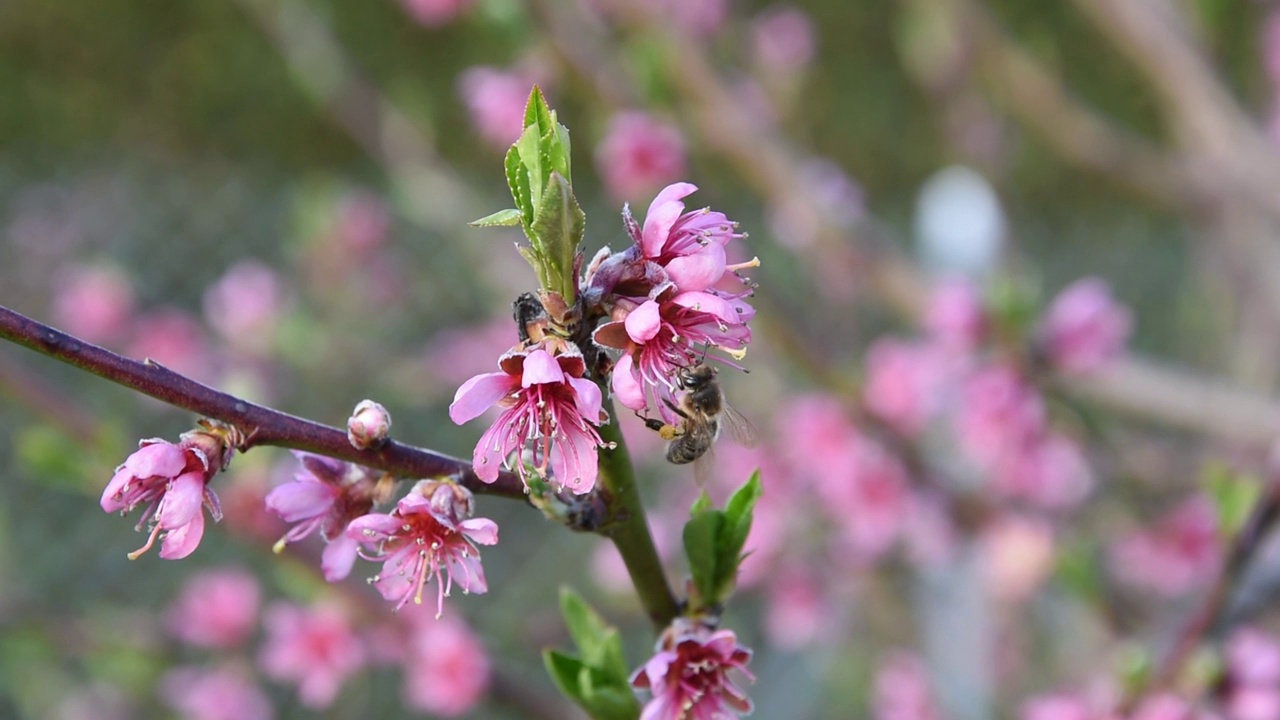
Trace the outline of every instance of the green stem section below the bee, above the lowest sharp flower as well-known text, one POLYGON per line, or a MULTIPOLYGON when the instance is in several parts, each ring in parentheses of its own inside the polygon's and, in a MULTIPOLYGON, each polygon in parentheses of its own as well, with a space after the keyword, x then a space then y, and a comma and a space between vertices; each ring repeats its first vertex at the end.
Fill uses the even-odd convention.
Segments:
POLYGON ((636 486, 635 466, 622 439, 622 429, 613 411, 613 402, 607 401, 604 409, 614 420, 600 428, 600 437, 612 442, 612 448, 600 450, 599 482, 608 493, 609 519, 600 534, 613 541, 622 555, 622 562, 631 575, 631 584, 640 596, 649 619, 659 630, 680 615, 680 603, 667 584, 667 574, 649 533, 649 521, 644 515, 644 501, 636 486))

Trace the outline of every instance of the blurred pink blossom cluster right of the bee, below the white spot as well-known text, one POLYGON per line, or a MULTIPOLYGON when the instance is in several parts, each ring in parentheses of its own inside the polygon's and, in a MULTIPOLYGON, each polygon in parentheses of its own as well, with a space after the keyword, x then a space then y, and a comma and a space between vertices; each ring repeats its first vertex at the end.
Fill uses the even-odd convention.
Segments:
MULTIPOLYGON (((940 418, 972 469, 996 493, 1044 509, 1078 505, 1092 486, 1079 445, 1053 430, 1044 400, 1025 369, 998 342, 977 291, 945 283, 934 292, 922 340, 881 340, 868 354, 868 410, 906 437, 940 418)), ((1068 374, 1094 372, 1123 352, 1128 310, 1098 279, 1074 283, 1033 332, 1032 357, 1068 374)))

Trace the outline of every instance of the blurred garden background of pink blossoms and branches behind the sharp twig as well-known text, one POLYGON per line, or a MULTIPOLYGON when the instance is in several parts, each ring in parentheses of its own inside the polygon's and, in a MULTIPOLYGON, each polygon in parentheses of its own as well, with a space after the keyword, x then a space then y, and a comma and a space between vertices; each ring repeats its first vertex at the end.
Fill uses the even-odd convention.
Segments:
MULTIPOLYGON (((588 255, 627 243, 622 202, 689 181, 763 261, 751 372, 722 373, 763 442, 721 443, 710 488, 764 473, 726 618, 756 716, 1092 717, 1050 712, 1164 688, 1280 717, 1280 675, 1248 685, 1276 714, 1248 715, 1231 660, 1280 656, 1280 559, 1253 543, 1210 593, 1275 475, 1276 13, 0 3, 0 304, 328 424, 375 398, 396 438, 468 456, 481 428, 445 407, 535 278, 518 233, 466 223, 509 206, 539 83, 588 255), (1178 657, 1204 607, 1203 653, 1178 657)), ((0 398, 0 717, 573 717, 539 656, 567 646, 561 584, 632 666, 650 653, 612 548, 509 501, 480 498, 490 591, 442 624, 392 615, 372 565, 326 585, 319 546, 269 552, 283 451, 216 480, 227 518, 193 556, 129 561, 145 538, 101 488, 195 418, 17 347, 0 398)), ((622 421, 678 579, 692 475, 622 421)))

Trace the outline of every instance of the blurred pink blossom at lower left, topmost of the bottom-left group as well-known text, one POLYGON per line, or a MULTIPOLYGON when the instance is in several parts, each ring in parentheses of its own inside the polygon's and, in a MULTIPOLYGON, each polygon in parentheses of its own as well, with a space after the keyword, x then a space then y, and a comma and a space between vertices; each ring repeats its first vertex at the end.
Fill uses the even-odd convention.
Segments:
POLYGON ((196 573, 169 607, 166 626, 178 639, 201 647, 233 648, 257 624, 257 578, 238 568, 196 573))

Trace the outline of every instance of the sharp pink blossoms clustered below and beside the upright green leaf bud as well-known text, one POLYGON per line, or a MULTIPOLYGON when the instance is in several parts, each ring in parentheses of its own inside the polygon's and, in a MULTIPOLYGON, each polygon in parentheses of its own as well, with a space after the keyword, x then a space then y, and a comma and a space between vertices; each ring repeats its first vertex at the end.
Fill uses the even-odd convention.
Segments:
POLYGON ((689 183, 664 188, 643 225, 625 209, 632 245, 604 249, 591 260, 580 278, 581 307, 558 307, 558 299, 544 295, 530 316, 517 311, 526 340, 502 356, 499 372, 458 388, 449 406, 458 424, 494 405, 502 409, 475 448, 480 479, 494 482, 504 465, 526 483, 532 475, 573 493, 591 491, 604 445, 596 427, 608 421, 593 380, 602 365, 608 370, 607 363, 591 361, 602 348, 620 354, 609 375, 618 402, 646 415, 657 411, 668 423, 677 419, 680 369, 705 357, 740 366, 754 310, 746 302, 751 284, 739 272, 756 263, 728 261, 726 246, 742 234, 723 213, 685 210, 684 199, 695 190, 689 183), (590 334, 570 337, 572 328, 548 319, 561 315, 582 318, 590 334))

